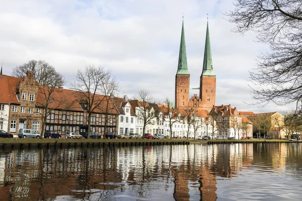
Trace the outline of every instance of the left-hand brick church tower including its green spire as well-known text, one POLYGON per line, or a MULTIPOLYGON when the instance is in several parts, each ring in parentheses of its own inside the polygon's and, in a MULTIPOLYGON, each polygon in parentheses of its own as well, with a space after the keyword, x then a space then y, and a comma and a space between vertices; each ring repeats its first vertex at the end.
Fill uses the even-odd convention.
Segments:
POLYGON ((187 65, 184 21, 182 23, 181 40, 179 48, 178 69, 175 76, 175 107, 189 105, 190 73, 187 65))

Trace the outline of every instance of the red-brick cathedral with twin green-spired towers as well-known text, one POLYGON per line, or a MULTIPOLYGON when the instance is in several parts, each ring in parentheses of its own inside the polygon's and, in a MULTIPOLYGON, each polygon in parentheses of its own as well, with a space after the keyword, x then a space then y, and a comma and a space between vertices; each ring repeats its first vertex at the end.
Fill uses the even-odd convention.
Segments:
POLYGON ((178 69, 175 76, 175 107, 176 108, 199 108, 210 111, 215 105, 216 75, 213 71, 209 27, 207 23, 205 48, 203 57, 202 73, 200 75, 199 96, 194 94, 189 98, 190 93, 190 73, 187 65, 186 42, 184 22, 179 49, 178 69))

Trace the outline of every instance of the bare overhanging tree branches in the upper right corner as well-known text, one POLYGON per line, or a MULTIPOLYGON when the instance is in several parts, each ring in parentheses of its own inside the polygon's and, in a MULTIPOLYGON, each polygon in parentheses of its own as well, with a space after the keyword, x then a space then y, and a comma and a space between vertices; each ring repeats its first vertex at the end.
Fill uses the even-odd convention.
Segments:
POLYGON ((261 55, 250 72, 255 104, 302 103, 302 6, 301 0, 236 0, 226 14, 235 31, 254 31, 271 51, 261 55))

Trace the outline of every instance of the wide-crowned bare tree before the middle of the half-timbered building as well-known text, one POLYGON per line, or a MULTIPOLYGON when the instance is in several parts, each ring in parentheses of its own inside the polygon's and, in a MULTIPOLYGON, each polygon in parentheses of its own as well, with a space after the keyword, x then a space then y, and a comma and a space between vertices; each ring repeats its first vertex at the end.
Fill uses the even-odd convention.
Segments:
POLYGON ((92 114, 100 107, 104 98, 108 98, 107 96, 100 96, 99 93, 104 91, 103 81, 109 75, 110 72, 103 67, 86 66, 84 70, 78 70, 75 74, 75 81, 70 86, 76 91, 75 95, 88 114, 88 139, 90 138, 92 114))

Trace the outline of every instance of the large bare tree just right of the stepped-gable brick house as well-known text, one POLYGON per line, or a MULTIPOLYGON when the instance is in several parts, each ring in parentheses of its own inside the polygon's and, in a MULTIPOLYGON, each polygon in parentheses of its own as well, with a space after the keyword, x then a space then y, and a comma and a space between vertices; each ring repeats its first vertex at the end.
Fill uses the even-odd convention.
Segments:
POLYGON ((36 87, 40 98, 37 98, 36 104, 37 107, 41 108, 41 136, 43 136, 46 118, 50 111, 66 104, 66 97, 58 95, 61 92, 58 87, 64 85, 64 79, 60 73, 56 72, 53 66, 43 60, 31 60, 17 66, 13 69, 13 75, 22 78, 28 71, 32 71, 33 77, 37 80, 36 87), (54 102, 56 102, 56 105, 52 104, 54 102), (51 108, 50 105, 52 105, 51 108))

